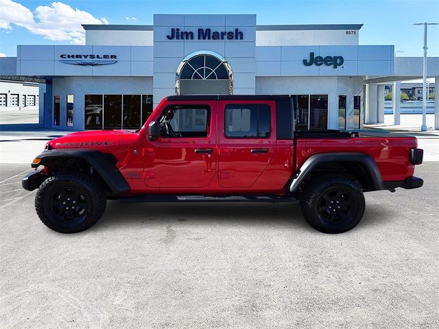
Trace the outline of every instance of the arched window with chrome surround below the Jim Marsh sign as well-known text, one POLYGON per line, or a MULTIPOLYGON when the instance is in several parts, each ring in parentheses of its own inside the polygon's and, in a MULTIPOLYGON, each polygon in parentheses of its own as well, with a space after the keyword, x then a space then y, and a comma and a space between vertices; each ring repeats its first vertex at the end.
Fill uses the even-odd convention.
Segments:
POLYGON ((178 66, 177 95, 230 95, 233 75, 227 61, 211 51, 191 53, 178 66))

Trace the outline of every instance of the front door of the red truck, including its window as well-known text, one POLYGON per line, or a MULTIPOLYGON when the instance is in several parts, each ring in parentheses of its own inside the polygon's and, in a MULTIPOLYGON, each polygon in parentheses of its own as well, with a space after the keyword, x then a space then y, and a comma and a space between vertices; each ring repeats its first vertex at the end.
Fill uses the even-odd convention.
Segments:
POLYGON ((169 102, 158 114, 161 136, 145 143, 145 184, 200 188, 217 175, 216 101, 169 102))

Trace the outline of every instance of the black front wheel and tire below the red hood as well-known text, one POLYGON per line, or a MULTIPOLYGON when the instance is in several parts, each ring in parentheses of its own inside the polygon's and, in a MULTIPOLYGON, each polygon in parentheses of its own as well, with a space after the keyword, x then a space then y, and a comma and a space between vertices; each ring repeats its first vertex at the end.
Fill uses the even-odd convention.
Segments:
POLYGON ((91 228, 105 207, 104 188, 80 173, 56 173, 40 185, 35 197, 38 217, 45 226, 61 233, 91 228))

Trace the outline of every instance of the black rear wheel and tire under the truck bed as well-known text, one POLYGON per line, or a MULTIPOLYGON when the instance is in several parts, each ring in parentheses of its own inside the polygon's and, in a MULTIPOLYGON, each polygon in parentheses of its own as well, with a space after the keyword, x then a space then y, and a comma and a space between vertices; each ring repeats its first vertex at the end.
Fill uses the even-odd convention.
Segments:
POLYGON ((344 176, 309 182, 300 199, 307 223, 324 233, 342 233, 355 228, 363 217, 364 206, 361 187, 344 176))

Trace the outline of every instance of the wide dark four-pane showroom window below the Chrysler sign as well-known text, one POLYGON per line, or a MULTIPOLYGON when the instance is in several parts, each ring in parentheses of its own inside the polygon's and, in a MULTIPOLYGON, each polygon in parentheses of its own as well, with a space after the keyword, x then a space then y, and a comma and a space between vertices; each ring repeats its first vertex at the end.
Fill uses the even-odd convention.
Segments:
POLYGON ((140 129, 152 113, 152 95, 84 95, 84 129, 140 129))

